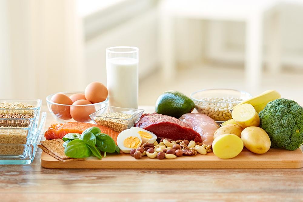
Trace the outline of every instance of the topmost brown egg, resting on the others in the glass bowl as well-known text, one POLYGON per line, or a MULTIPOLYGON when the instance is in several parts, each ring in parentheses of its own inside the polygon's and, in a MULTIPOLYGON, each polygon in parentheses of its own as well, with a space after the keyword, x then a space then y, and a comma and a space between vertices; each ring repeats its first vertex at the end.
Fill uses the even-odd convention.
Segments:
POLYGON ((85 98, 91 103, 103 102, 108 95, 107 88, 101 82, 92 82, 85 88, 85 98))

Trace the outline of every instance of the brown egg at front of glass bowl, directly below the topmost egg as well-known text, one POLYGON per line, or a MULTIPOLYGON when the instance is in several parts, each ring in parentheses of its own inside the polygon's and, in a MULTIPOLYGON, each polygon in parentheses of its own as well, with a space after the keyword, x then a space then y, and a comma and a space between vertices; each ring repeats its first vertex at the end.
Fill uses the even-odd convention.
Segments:
MULTIPOLYGON (((91 102, 85 99, 79 99, 74 102, 72 105, 88 105, 92 104, 91 102)), ((91 120, 89 117, 90 114, 96 111, 95 106, 71 106, 70 113, 78 122, 88 122, 91 120)))

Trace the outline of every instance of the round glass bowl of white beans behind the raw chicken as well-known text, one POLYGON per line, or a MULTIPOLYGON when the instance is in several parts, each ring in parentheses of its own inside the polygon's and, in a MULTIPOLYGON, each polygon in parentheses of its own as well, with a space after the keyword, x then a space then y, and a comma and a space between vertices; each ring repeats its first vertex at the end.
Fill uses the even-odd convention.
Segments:
POLYGON ((252 97, 245 91, 233 89, 203 89, 190 96, 198 113, 211 117, 217 123, 232 119, 230 109, 252 97))

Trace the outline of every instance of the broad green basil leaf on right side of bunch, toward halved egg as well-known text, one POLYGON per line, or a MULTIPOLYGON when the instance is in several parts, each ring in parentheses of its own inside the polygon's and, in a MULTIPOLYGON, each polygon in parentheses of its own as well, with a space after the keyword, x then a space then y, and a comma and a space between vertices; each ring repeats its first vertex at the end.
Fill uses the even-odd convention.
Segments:
POLYGON ((103 152, 114 153, 116 151, 115 141, 104 133, 95 134, 96 147, 103 152))

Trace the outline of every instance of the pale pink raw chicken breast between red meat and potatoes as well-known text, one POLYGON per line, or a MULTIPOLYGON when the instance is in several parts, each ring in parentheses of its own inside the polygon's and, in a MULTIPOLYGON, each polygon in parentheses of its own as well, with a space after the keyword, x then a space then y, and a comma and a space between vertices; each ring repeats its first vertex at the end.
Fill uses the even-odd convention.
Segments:
POLYGON ((212 144, 214 134, 220 127, 211 117, 200 113, 183 114, 179 120, 198 132, 201 135, 202 143, 207 145, 212 144))

